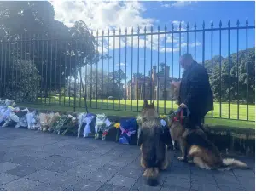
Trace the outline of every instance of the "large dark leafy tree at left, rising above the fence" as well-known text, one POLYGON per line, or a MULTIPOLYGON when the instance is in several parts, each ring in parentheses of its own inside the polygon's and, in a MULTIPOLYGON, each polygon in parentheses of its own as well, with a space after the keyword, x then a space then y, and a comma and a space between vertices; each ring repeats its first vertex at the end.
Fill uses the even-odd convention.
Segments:
POLYGON ((61 90, 68 77, 77 78, 82 66, 98 60, 96 41, 88 26, 77 21, 67 28, 54 16, 49 2, 0 3, 0 39, 8 41, 1 45, 0 54, 2 58, 11 56, 4 64, 9 66, 12 56, 32 62, 42 77, 38 89, 45 95, 49 90, 61 90))

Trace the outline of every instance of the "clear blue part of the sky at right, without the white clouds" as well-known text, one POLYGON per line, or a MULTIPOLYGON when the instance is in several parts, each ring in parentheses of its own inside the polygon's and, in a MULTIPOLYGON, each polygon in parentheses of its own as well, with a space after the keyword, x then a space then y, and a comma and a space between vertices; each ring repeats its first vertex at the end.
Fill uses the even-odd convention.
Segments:
MULTIPOLYGON (((228 26, 228 20, 231 22, 231 27, 236 26, 236 21, 240 20, 240 26, 246 25, 246 19, 249 21, 249 26, 254 26, 255 16, 255 2, 191 2, 184 3, 179 7, 172 7, 173 2, 144 2, 147 9, 145 17, 153 17, 159 20, 155 22, 155 26, 160 25, 161 28, 167 25, 168 29, 171 29, 173 20, 182 20, 185 23, 189 23, 191 29, 194 28, 196 22, 197 28, 202 28, 202 23, 205 21, 206 27, 211 28, 210 22, 212 21, 214 26, 219 26, 219 21, 222 20, 222 26, 228 26)), ((190 28, 189 28, 190 29, 190 28)), ((255 31, 248 30, 248 47, 255 46, 255 31)), ((206 32, 205 35, 205 59, 211 59, 211 31, 206 32)), ((189 43, 193 42, 194 33, 189 33, 189 43)), ((202 33, 197 34, 197 41, 202 43, 202 33)), ((185 34, 186 42, 186 34, 185 34)), ((230 31, 230 54, 237 50, 237 31, 230 31)), ((239 49, 246 48, 246 31, 239 31, 239 49)), ((222 31, 221 41, 222 56, 228 56, 228 31, 222 31)), ((182 49, 182 54, 186 52, 186 48, 182 49)), ((194 54, 194 48, 189 48, 189 52, 194 54)), ((219 55, 219 31, 213 33, 213 56, 219 55)), ((178 52, 175 54, 178 55, 178 52)), ((160 54, 160 58, 164 59, 163 54, 160 54)), ((175 58, 175 57, 174 57, 175 58)), ((196 60, 201 62, 202 60, 202 44, 196 48, 196 60)), ((162 60, 161 60, 162 61, 162 60)), ((172 56, 167 53, 166 63, 171 65, 172 56), (170 61, 170 62, 169 62, 170 61)), ((177 68, 177 57, 174 59, 174 67, 177 68)), ((178 71, 174 72, 177 76, 178 71)))

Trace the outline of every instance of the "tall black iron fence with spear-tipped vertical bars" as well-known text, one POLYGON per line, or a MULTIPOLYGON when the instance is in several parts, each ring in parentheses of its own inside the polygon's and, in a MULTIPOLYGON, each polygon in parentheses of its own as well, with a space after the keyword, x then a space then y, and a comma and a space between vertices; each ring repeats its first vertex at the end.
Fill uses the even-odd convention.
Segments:
POLYGON ((147 99, 168 114, 177 109, 171 81, 182 77, 179 57, 190 53, 212 86, 207 117, 255 121, 255 26, 190 26, 0 37, 0 97, 104 112, 138 112, 147 99))

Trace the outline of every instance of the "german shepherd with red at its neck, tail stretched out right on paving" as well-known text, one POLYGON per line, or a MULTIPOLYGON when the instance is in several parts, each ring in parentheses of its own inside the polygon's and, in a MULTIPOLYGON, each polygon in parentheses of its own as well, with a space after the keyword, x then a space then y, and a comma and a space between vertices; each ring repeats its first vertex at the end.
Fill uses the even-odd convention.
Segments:
POLYGON ((246 163, 239 160, 223 159, 218 148, 207 139, 201 128, 186 129, 174 117, 175 115, 172 115, 169 118, 168 126, 172 140, 177 140, 181 146, 182 157, 178 157, 179 160, 192 159, 189 163, 195 163, 203 169, 248 168, 246 163))

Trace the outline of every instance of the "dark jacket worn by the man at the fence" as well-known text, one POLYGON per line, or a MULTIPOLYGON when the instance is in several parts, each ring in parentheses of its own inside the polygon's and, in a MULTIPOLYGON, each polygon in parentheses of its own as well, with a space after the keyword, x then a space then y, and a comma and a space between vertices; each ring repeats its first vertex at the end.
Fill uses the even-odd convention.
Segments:
POLYGON ((179 104, 181 103, 188 106, 191 114, 201 117, 213 110, 212 89, 207 70, 197 62, 183 72, 179 93, 179 104))

